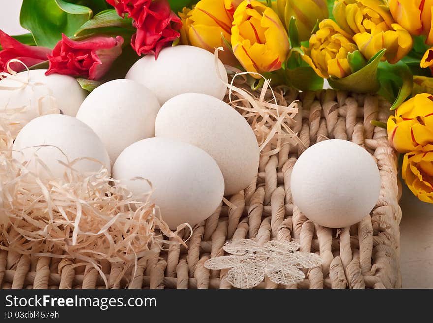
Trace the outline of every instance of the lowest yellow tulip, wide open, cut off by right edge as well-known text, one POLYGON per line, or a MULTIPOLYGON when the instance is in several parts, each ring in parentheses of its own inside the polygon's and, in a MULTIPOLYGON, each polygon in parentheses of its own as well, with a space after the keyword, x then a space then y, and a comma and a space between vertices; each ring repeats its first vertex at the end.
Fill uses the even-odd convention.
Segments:
POLYGON ((402 178, 418 199, 433 203, 433 152, 405 154, 402 178))

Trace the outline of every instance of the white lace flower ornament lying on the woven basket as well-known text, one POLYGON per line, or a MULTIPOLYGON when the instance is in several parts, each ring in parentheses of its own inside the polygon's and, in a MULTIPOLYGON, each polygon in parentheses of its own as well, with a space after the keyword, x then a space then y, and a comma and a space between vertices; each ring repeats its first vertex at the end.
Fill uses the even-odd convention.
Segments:
POLYGON ((205 267, 230 269, 225 279, 236 288, 253 288, 268 277, 276 284, 292 285, 304 280, 300 269, 315 268, 322 259, 314 253, 297 251, 294 241, 268 241, 263 246, 250 239, 227 242, 231 255, 211 258, 205 267))

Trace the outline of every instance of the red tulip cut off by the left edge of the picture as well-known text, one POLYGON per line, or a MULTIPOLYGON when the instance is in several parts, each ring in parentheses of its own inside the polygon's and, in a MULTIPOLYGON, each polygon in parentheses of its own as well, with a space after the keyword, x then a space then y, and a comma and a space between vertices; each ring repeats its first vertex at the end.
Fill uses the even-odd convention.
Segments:
MULTIPOLYGON (((27 67, 31 67, 46 61, 48 59, 47 55, 51 53, 49 48, 21 44, 1 29, 0 44, 3 48, 0 51, 0 72, 7 72, 7 64, 11 59, 18 59, 27 67)), ((9 68, 15 72, 26 69, 25 66, 17 62, 10 63, 9 68)))

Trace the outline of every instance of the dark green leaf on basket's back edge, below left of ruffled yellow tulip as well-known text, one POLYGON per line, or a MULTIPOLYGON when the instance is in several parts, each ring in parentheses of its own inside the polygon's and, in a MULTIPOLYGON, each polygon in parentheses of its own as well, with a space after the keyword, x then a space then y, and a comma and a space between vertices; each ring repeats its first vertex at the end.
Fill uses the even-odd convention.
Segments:
POLYGON ((323 79, 310 66, 300 66, 286 70, 289 83, 300 91, 319 91, 323 88, 323 79))

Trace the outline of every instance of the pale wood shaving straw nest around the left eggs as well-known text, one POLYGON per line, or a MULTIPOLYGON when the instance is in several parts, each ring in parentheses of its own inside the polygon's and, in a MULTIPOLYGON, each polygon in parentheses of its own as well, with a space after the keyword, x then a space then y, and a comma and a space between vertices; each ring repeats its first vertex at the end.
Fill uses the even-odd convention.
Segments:
POLYGON ((75 257, 100 270, 97 260, 132 263, 152 256, 157 250, 149 246, 161 245, 164 236, 172 238, 170 243, 184 243, 155 216, 157 207, 149 197, 134 201, 106 169, 81 174, 72 161, 64 165, 63 178, 39 178, 12 158, 21 127, 4 115, 0 119, 0 249, 75 257))

